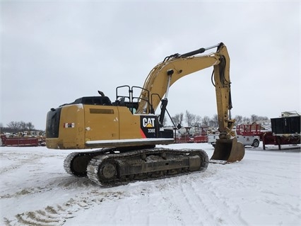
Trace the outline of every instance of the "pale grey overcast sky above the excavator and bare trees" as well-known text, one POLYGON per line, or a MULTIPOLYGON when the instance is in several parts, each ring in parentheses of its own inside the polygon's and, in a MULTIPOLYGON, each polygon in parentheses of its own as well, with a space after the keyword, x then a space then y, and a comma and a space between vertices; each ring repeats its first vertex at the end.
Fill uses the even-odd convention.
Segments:
MULTIPOLYGON (((167 55, 220 42, 231 59, 232 116, 301 112, 300 1, 11 0, 0 14, 4 126, 45 129, 50 108, 98 90, 114 101, 116 86, 143 86, 167 55)), ((171 115, 216 114, 212 69, 171 87, 171 115)))

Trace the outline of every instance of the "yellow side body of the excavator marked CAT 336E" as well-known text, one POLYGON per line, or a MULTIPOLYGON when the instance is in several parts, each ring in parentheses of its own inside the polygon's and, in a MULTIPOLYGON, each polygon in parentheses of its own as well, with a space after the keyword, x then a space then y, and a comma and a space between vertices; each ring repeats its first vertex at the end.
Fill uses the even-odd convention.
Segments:
MULTIPOLYGON (((158 116, 133 114, 126 106, 73 104, 57 111, 57 137, 47 134, 50 149, 87 149, 92 147, 127 147, 167 145, 170 138, 158 138, 158 116)), ((53 114, 54 113, 54 114, 53 114)), ((51 125, 51 123, 48 123, 51 125)))

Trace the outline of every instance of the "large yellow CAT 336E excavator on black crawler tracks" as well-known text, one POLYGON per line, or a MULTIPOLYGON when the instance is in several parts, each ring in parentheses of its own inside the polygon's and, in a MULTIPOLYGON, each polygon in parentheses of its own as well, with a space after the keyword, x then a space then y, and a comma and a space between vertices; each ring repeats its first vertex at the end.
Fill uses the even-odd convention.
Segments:
POLYGON ((100 185, 205 171, 209 162, 239 162, 244 146, 232 132, 235 120, 230 118, 229 69, 230 57, 223 43, 165 57, 148 74, 143 87, 118 86, 114 102, 98 91, 99 96, 84 96, 51 108, 46 122, 47 148, 79 149, 66 157, 64 169, 100 185), (213 48, 216 52, 200 55, 213 48), (220 132, 210 160, 202 149, 163 146, 175 143, 175 130, 163 127, 165 114, 170 115, 170 86, 208 67, 213 67, 211 81, 216 88, 220 132), (160 114, 156 115, 159 105, 160 114))

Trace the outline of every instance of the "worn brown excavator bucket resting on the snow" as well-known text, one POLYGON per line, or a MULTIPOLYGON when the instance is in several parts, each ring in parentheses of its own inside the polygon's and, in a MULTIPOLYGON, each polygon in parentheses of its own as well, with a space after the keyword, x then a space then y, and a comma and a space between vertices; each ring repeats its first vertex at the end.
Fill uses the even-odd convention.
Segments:
POLYGON ((233 139, 217 139, 216 147, 210 162, 226 164, 237 162, 244 157, 244 145, 237 142, 237 138, 233 139))

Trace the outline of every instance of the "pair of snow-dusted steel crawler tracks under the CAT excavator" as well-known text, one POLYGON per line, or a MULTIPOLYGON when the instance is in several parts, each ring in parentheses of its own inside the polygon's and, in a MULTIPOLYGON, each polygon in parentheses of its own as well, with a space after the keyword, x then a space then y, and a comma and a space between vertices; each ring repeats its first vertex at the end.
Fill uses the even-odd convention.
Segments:
POLYGON ((88 176, 100 185, 118 185, 189 171, 204 171, 208 155, 201 149, 137 149, 119 152, 104 148, 94 152, 73 152, 64 161, 64 169, 74 176, 88 176))

